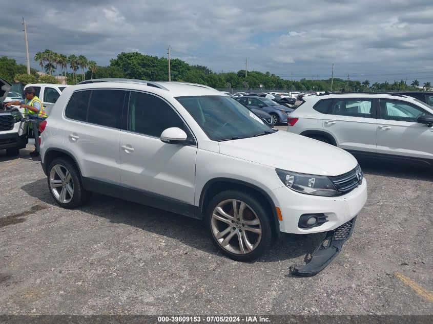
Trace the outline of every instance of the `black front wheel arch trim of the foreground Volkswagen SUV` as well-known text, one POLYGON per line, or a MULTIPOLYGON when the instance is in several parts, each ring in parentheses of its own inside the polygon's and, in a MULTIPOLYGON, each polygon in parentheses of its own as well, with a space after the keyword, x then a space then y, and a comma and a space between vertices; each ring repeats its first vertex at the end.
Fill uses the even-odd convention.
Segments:
POLYGON ((264 191, 262 188, 242 180, 230 179, 230 178, 214 178, 209 180, 201 190, 199 207, 198 210, 201 215, 204 215, 205 208, 208 203, 217 193, 228 190, 228 189, 237 189, 237 190, 245 190, 249 192, 256 193, 260 195, 267 206, 269 211, 272 213, 271 226, 274 233, 278 236, 280 234, 280 224, 278 221, 277 211, 275 209, 275 204, 272 198, 264 191))

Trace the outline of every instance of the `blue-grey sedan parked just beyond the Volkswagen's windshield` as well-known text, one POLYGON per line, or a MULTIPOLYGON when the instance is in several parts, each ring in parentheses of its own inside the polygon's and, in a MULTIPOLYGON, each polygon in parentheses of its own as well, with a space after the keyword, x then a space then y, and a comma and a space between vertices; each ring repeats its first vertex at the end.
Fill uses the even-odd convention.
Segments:
POLYGON ((292 108, 263 97, 243 96, 236 98, 236 100, 249 108, 259 109, 270 114, 274 125, 286 123, 287 116, 293 112, 292 108))

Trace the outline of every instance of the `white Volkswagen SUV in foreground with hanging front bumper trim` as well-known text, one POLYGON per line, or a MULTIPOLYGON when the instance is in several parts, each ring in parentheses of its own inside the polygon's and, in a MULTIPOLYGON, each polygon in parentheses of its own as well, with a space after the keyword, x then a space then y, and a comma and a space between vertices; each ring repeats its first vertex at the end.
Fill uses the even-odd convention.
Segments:
POLYGON ((367 198, 352 155, 274 131, 204 85, 88 80, 66 88, 46 121, 40 156, 60 206, 95 191, 204 220, 238 261, 262 255, 280 232, 327 232, 327 254, 295 268, 317 273, 367 198))

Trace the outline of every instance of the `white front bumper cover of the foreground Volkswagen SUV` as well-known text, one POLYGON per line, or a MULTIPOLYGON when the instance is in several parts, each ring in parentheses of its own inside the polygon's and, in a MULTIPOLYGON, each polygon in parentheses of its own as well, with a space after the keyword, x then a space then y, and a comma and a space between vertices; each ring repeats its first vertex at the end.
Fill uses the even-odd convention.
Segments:
POLYGON ((275 206, 281 210, 280 231, 293 234, 311 234, 336 229, 352 220, 364 207, 367 200, 367 181, 354 190, 339 197, 304 195, 286 186, 272 191, 275 206), (313 228, 299 228, 299 218, 303 214, 323 213, 327 222, 313 228))

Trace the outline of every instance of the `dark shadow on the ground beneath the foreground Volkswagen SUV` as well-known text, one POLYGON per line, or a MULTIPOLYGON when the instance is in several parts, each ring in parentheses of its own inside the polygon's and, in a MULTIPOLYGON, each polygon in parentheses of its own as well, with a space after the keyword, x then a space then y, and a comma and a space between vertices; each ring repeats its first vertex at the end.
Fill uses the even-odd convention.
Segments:
MULTIPOLYGON (((57 206, 48 191, 46 179, 26 184, 21 189, 50 207, 57 206)), ((203 252, 221 255, 212 244, 204 222, 197 219, 96 193, 92 194, 88 203, 77 209, 96 217, 105 218, 111 223, 134 226, 147 232, 171 237, 203 252)), ((277 262, 307 255, 321 243, 324 234, 305 236, 296 237, 293 240, 293 237, 280 235, 271 249, 256 262, 277 262)))

